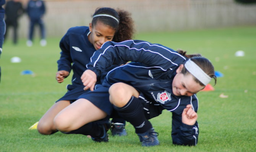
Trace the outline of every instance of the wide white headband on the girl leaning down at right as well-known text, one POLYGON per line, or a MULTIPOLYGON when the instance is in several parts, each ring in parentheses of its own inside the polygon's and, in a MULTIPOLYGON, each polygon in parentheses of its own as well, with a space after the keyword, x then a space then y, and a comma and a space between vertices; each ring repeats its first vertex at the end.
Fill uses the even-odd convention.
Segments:
POLYGON ((185 68, 194 77, 196 77, 196 79, 198 79, 200 82, 202 82, 204 84, 204 86, 206 86, 211 81, 211 79, 212 79, 196 63, 194 63, 190 59, 185 63, 185 68))

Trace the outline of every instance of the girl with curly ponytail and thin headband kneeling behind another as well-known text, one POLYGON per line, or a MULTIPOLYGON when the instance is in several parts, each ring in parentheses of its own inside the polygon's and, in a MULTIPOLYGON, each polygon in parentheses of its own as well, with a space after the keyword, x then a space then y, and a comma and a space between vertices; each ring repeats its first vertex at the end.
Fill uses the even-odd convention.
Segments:
MULTIPOLYGON (((58 63, 58 72, 56 79, 62 83, 64 78, 68 77, 73 70, 72 84, 67 86, 68 92, 57 100, 53 106, 42 116, 37 125, 39 133, 50 135, 57 132, 53 124, 54 117, 65 107, 76 101, 79 95, 83 94, 83 82, 80 77, 87 69, 86 64, 90 62, 91 56, 97 49, 100 49, 106 41, 125 41, 133 37, 134 26, 131 14, 127 11, 112 8, 97 8, 92 16, 92 22, 89 26, 71 27, 60 41, 60 59, 58 63)), ((103 81, 105 74, 118 65, 109 66, 102 71, 101 79, 103 81)), ((72 114, 72 112, 70 113, 72 114)), ((121 120, 116 120, 120 122, 121 120)), ((120 123, 124 123, 122 120, 120 123)), ((115 128, 114 128, 115 129, 115 128)), ((113 134, 125 135, 125 129, 113 129, 113 134), (122 134, 120 134, 122 133, 122 134)), ((80 133, 79 131, 75 133, 80 133)), ((83 134, 83 133, 82 133, 83 134)))

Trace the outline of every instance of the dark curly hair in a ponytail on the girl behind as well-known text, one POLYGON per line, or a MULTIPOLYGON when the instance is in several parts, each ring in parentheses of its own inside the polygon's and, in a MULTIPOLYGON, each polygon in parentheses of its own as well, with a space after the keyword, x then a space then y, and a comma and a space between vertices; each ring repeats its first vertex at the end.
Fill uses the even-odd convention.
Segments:
POLYGON ((133 39, 134 34, 134 22, 131 18, 131 13, 128 11, 117 9, 117 11, 113 8, 102 7, 97 8, 93 16, 97 14, 108 14, 115 17, 118 21, 113 19, 112 17, 107 16, 98 16, 93 17, 92 26, 94 26, 97 21, 102 22, 105 25, 112 27, 116 32, 113 37, 114 42, 122 42, 125 40, 133 39))

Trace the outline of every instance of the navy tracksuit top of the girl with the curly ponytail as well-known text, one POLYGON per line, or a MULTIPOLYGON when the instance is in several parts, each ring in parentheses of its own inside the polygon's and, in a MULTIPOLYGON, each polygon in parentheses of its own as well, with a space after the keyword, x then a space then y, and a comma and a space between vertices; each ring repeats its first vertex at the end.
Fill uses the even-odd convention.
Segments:
MULTIPOLYGON (((60 49, 62 52, 60 52, 60 59, 57 61, 58 71, 65 70, 71 72, 73 70, 72 87, 83 86, 81 75, 87 70, 86 64, 90 62, 91 56, 96 51, 88 40, 89 33, 89 27, 71 27, 63 36, 62 40, 60 40, 60 49)), ((104 80, 107 72, 115 67, 117 65, 106 68, 97 81, 97 84, 100 84, 104 80)))

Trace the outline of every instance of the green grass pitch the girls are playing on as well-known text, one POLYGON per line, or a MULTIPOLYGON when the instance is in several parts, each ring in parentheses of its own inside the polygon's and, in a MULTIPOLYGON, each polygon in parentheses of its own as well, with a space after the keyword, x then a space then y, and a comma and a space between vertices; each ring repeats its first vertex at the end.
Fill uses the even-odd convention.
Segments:
POLYGON ((19 40, 13 46, 7 40, 0 64, 0 151, 95 151, 95 152, 252 152, 256 151, 256 27, 197 30, 165 33, 139 33, 136 39, 160 43, 188 54, 201 53, 212 61, 217 79, 212 92, 199 92, 199 142, 197 146, 175 146, 170 136, 171 114, 151 120, 159 132, 160 146, 141 147, 134 128, 128 123, 126 137, 112 137, 108 143, 95 143, 83 135, 55 133, 44 136, 28 128, 66 92, 67 78, 55 80, 61 37, 48 38, 46 47, 36 41, 32 47, 19 40), (244 57, 235 57, 243 50, 244 57), (11 63, 18 56, 21 63, 11 63), (31 70, 31 75, 21 71, 31 70), (224 93, 228 98, 220 98, 224 93))

